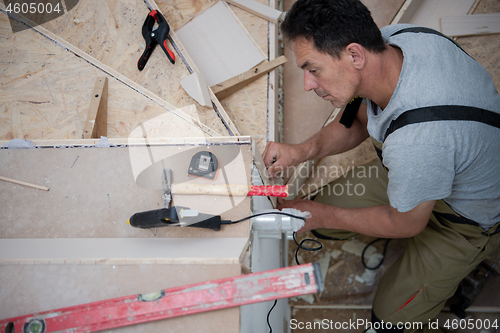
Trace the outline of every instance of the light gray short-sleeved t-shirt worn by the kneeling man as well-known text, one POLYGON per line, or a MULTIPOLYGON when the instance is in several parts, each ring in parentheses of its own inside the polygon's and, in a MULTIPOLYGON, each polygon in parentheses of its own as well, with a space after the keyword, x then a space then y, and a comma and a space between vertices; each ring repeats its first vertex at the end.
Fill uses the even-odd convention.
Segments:
MULTIPOLYGON (((403 51, 396 90, 384 110, 368 101, 368 131, 383 142, 392 120, 407 110, 464 105, 500 113, 500 96, 488 72, 443 36, 406 32, 411 25, 381 29, 403 51)), ((485 230, 500 221, 500 129, 474 121, 407 125, 387 137, 391 205, 406 212, 444 199, 458 214, 485 230)))

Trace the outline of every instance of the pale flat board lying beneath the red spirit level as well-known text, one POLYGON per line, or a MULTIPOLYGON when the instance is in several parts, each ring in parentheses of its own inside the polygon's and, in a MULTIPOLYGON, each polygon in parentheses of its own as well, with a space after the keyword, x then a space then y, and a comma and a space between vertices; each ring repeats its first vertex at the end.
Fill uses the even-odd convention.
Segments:
MULTIPOLYGON (((240 275, 240 265, 25 265, 0 269, 0 318, 240 275)), ((265 318, 263 319, 265 320, 265 318)), ((113 329, 113 332, 239 332, 239 307, 113 329)))

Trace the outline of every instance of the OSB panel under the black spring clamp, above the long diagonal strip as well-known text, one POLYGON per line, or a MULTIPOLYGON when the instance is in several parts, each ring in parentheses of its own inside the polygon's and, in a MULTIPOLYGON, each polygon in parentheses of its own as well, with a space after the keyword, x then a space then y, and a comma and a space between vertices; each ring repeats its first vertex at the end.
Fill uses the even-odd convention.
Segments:
POLYGON ((214 126, 215 120, 218 121, 215 111, 200 106, 182 89, 180 81, 189 71, 180 57, 172 65, 158 46, 145 69, 137 69, 137 61, 146 47, 142 25, 148 12, 142 0, 80 0, 70 13, 43 27, 168 103, 179 108, 197 104, 201 122, 227 135, 220 128, 222 124, 214 126))

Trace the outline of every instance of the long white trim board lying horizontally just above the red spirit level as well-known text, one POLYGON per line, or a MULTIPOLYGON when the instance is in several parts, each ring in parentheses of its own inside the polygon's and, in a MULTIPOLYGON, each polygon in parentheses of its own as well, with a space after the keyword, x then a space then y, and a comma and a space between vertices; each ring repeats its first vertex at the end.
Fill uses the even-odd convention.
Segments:
POLYGON ((1 239, 0 266, 238 264, 247 242, 248 238, 1 239))

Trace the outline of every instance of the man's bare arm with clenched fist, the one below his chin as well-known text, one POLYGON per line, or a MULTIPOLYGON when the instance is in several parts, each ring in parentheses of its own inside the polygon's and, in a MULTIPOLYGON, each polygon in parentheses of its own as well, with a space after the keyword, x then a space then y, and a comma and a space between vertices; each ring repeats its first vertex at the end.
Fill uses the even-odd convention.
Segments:
POLYGON ((264 164, 271 177, 287 167, 301 162, 343 153, 357 147, 368 138, 366 105, 361 104, 351 128, 339 123, 340 115, 318 133, 300 144, 268 142, 264 150, 264 164))

